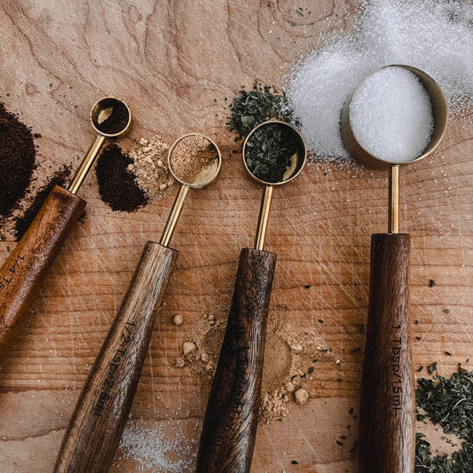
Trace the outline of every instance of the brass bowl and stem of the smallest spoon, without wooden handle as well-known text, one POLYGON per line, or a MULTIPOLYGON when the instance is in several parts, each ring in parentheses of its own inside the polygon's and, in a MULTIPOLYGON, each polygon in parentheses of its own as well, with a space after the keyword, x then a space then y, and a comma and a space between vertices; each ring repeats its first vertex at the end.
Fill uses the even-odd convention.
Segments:
POLYGON ((103 146, 105 142, 105 138, 122 138, 130 131, 130 128, 131 128, 130 108, 125 104, 125 102, 123 102, 120 99, 115 99, 114 97, 106 97, 105 99, 99 100, 97 103, 95 103, 94 106, 92 106, 91 123, 92 123, 92 127, 97 132, 97 135, 92 141, 91 147, 88 149, 87 153, 85 154, 83 158, 83 162, 81 162, 79 169, 77 169, 77 172, 75 173, 75 177, 72 183, 67 188, 67 190, 70 193, 77 193, 77 191, 79 190, 79 187, 83 183, 83 179, 87 176, 89 169, 91 169, 91 166, 93 162, 95 161, 95 158, 99 154, 100 148, 103 146), (118 102, 122 102, 122 104, 126 106, 128 110, 128 117, 129 117, 128 122, 122 130, 118 131, 118 133, 114 133, 114 134, 103 133, 102 131, 99 130, 99 124, 110 116, 110 114, 112 113, 112 110, 114 109, 114 106, 118 102))

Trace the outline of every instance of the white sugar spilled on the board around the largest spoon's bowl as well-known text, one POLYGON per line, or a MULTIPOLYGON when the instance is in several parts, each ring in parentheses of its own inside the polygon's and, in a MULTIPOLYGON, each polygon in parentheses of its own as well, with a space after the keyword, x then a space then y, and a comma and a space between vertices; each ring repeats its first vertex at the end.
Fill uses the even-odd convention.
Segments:
POLYGON ((406 64, 440 85, 450 114, 468 119, 473 96, 473 3, 469 0, 364 2, 354 33, 338 34, 296 67, 288 106, 309 149, 325 161, 348 158, 343 103, 374 69, 406 64))

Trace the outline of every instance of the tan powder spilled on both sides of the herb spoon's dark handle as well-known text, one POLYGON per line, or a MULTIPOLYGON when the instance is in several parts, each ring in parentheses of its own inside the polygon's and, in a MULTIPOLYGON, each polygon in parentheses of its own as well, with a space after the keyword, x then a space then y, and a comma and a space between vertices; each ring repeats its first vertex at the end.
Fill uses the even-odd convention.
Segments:
MULTIPOLYGON (((217 319, 213 314, 194 323, 174 367, 189 367, 202 385, 210 389, 225 327, 226 318, 217 319), (190 343, 193 350, 189 356, 190 343)), ((264 343, 259 422, 281 421, 291 407, 308 402, 308 387, 316 379, 318 363, 335 365, 340 363, 338 357, 315 329, 280 327, 270 321, 264 343)))

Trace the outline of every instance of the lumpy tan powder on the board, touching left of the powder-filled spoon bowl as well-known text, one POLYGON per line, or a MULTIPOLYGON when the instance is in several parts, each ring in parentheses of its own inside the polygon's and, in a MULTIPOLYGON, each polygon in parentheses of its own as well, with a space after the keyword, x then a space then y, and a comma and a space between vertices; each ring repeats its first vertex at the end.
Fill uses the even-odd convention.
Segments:
POLYGON ((139 145, 130 151, 128 170, 149 199, 159 200, 168 193, 174 179, 168 169, 169 145, 156 135, 149 141, 141 138, 139 145))

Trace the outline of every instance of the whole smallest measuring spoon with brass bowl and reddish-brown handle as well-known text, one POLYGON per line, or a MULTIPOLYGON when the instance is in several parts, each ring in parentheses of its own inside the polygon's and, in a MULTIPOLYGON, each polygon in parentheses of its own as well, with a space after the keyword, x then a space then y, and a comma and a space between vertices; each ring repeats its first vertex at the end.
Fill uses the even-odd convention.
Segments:
POLYGON ((97 136, 66 189, 55 185, 27 232, 0 269, 0 351, 20 329, 44 276, 58 255, 67 235, 83 213, 85 201, 75 195, 91 169, 106 138, 122 138, 131 127, 130 109, 122 100, 107 97, 91 110, 97 136), (120 112, 117 114, 114 110, 120 112), (105 131, 104 131, 105 130, 105 131), (113 132, 111 132, 113 131, 113 132))

